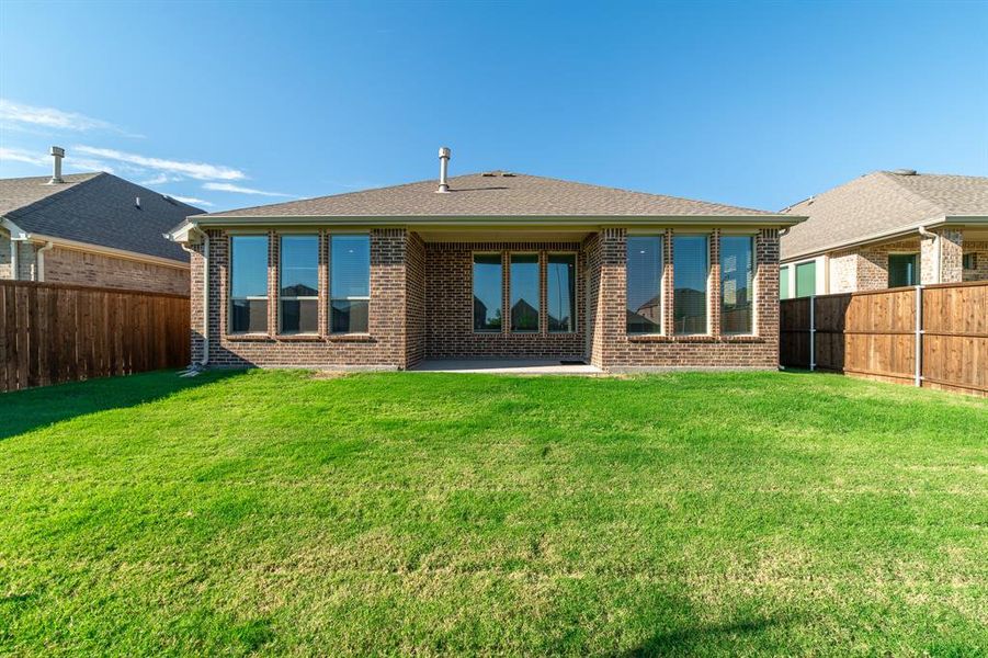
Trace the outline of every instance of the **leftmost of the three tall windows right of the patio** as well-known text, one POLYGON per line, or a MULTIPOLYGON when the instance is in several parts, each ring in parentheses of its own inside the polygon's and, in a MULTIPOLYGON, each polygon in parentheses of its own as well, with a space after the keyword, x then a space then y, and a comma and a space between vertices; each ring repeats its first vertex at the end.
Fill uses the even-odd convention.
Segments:
POLYGON ((662 331, 662 238, 627 239, 627 332, 662 331))

